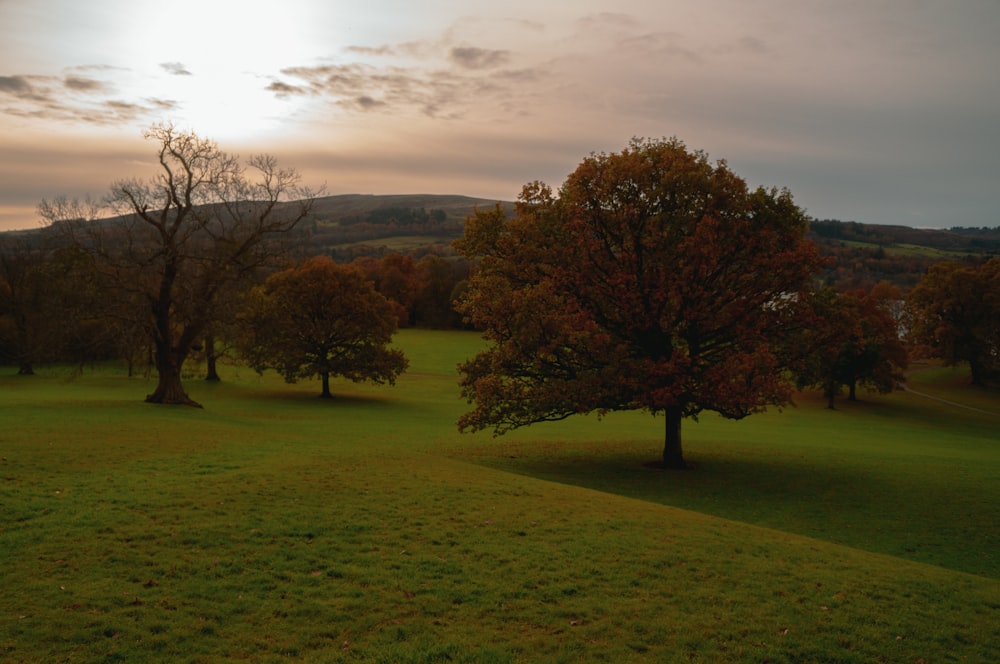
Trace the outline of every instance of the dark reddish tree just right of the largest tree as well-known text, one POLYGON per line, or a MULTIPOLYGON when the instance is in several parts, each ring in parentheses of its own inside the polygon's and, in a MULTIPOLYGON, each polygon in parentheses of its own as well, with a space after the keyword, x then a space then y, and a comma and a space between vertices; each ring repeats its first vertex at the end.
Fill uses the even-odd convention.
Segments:
POLYGON ((799 386, 821 387, 829 408, 845 385, 850 401, 857 400, 858 385, 880 394, 891 392, 903 380, 907 365, 892 313, 901 297, 899 289, 886 282, 871 291, 825 288, 814 294, 809 303, 815 321, 794 340, 809 349, 797 367, 799 386))

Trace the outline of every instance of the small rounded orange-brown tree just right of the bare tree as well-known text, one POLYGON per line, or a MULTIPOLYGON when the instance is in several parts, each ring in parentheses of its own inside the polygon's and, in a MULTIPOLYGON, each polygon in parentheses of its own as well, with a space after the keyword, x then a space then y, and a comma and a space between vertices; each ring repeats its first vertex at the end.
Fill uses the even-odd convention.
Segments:
POLYGON ((331 398, 330 376, 395 384, 407 367, 388 348, 396 310, 354 266, 326 256, 275 273, 254 289, 242 316, 242 354, 256 371, 275 369, 285 380, 319 376, 331 398))

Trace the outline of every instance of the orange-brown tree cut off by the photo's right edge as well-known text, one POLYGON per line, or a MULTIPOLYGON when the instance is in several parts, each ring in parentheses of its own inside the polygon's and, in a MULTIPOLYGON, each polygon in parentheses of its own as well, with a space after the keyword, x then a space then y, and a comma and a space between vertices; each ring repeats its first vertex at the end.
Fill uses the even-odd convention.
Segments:
POLYGON ((974 385, 1000 375, 1000 258, 938 263, 907 297, 910 338, 949 365, 968 362, 974 385))

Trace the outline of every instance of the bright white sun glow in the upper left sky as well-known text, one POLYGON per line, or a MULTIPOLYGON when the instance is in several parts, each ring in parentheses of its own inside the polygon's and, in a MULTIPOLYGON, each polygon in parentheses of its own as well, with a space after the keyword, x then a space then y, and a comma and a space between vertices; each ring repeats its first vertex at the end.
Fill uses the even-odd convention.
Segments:
POLYGON ((131 66, 133 92, 162 107, 159 119, 220 141, 261 139, 308 102, 278 98, 268 85, 282 68, 323 55, 321 30, 330 50, 337 46, 336 21, 320 20, 315 4, 286 0, 280 11, 256 0, 142 5, 142 15, 116 19, 127 24, 115 31, 117 49, 142 54, 131 66))

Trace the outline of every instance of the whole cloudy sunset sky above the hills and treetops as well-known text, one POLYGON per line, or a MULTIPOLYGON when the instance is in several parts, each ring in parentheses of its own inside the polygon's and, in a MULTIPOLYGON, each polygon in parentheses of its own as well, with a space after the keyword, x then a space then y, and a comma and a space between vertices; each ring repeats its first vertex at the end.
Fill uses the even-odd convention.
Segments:
POLYGON ((0 229, 156 122, 329 194, 554 189, 676 136, 818 219, 998 226, 998 0, 0 0, 0 229))

